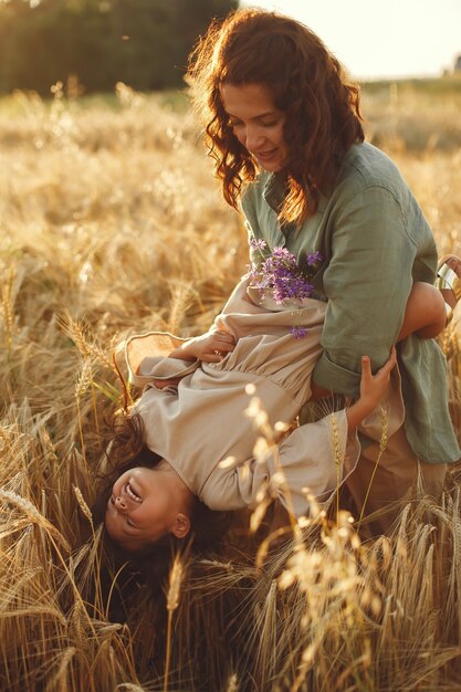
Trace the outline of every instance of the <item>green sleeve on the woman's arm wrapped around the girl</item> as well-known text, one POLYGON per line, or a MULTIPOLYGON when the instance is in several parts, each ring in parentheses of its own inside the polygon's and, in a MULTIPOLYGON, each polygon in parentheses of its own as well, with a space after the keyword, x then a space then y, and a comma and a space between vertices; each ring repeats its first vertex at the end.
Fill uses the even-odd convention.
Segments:
POLYGON ((357 396, 362 356, 374 370, 386 361, 404 321, 415 256, 401 206, 386 188, 368 187, 338 210, 324 273, 328 305, 316 385, 357 396))

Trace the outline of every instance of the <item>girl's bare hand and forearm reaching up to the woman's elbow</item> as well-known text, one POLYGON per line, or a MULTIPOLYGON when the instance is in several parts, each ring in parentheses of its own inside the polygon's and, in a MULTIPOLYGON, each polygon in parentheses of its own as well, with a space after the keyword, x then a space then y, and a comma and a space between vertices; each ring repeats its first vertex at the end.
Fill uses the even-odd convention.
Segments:
POLYGON ((371 363, 368 356, 362 358, 360 397, 347 410, 349 432, 355 430, 381 401, 390 381, 390 373, 397 363, 396 347, 392 346, 388 360, 376 373, 371 374, 371 363))

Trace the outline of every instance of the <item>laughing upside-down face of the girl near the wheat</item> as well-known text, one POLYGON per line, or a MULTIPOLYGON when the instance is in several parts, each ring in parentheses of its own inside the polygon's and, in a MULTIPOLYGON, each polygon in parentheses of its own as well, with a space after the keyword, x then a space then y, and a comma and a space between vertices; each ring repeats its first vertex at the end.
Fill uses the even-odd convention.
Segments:
POLYGON ((187 535, 190 522, 182 481, 168 466, 137 466, 115 481, 104 523, 111 538, 125 549, 143 549, 168 533, 178 538, 187 535))

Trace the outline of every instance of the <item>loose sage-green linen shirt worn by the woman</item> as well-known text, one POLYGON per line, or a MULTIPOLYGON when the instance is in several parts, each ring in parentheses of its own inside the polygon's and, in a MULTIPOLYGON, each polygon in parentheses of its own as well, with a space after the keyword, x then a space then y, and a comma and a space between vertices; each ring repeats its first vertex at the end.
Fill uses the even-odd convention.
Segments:
MULTIPOLYGON (((269 251, 283 247, 300 265, 318 251, 315 297, 328 302, 322 335, 323 355, 314 381, 356 397, 360 358, 373 368, 389 357, 404 321, 413 281, 433 283, 437 249, 432 231, 395 164, 370 144, 353 145, 328 197, 301 228, 284 227, 276 210, 283 199, 281 174, 262 171, 242 197, 249 238, 269 251)), ((256 249, 250 249, 253 262, 256 249)), ((448 409, 447 369, 433 339, 409 336, 399 345, 406 406, 405 429, 422 461, 461 458, 448 409)))

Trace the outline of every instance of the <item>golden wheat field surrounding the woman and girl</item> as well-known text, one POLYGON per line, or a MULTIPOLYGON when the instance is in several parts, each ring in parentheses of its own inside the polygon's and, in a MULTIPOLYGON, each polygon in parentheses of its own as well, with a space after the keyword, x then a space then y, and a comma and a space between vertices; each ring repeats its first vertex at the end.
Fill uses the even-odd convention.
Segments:
MULTIPOLYGON (((363 111, 440 253, 461 253, 461 91, 440 84, 370 85, 363 111)), ((321 515, 258 562, 264 526, 243 517, 231 547, 111 615, 87 505, 119 405, 113 347, 205 331, 245 264, 186 96, 0 102, 0 690, 460 689, 457 470, 391 538, 321 515)), ((461 434, 458 334, 441 340, 461 434)))

